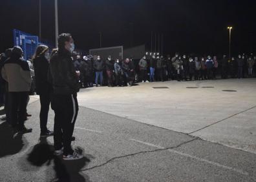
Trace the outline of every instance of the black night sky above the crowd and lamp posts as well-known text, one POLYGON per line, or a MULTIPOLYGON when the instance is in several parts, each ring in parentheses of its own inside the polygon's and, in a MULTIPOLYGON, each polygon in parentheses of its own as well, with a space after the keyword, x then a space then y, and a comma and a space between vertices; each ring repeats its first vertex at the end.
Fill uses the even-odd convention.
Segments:
MULTIPOLYGON (((39 34, 39 1, 1 0, 0 52, 12 47, 12 29, 39 34)), ((54 43, 54 0, 42 2, 42 38, 54 43)), ((70 32, 76 48, 146 44, 164 34, 164 54, 256 54, 254 0, 59 0, 59 33, 70 32)))

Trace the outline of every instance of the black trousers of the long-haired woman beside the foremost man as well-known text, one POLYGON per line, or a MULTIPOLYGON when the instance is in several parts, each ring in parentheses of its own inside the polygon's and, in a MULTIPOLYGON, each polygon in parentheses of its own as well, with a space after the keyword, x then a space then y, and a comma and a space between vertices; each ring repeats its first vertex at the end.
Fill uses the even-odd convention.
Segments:
POLYGON ((48 120, 48 112, 50 107, 50 93, 40 93, 40 129, 41 132, 47 132, 47 120, 48 120))

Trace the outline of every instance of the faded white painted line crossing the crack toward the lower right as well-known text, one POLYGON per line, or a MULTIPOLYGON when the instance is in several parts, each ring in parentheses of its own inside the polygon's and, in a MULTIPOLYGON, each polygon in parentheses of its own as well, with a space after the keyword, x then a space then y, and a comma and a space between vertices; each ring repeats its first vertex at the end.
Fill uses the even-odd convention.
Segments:
MULTIPOLYGON (((140 140, 136 140, 136 139, 130 139, 131 141, 136 141, 138 143, 142 143, 144 145, 149 145, 151 147, 155 147, 155 148, 159 148, 159 149, 164 149, 164 147, 161 147, 161 146, 158 146, 158 145, 154 145, 152 143, 146 143, 144 141, 140 141, 140 140)), ((225 169, 228 169, 228 170, 233 170, 234 172, 237 172, 239 174, 242 174, 242 175, 245 175, 245 176, 249 176, 249 173, 248 172, 244 172, 242 170, 239 170, 239 169, 236 169, 236 168, 233 168, 233 167, 228 167, 228 166, 225 166, 225 165, 222 165, 220 163, 216 163, 216 162, 213 162, 213 161, 209 161, 208 159, 203 159, 201 157, 197 157, 197 156, 191 156, 189 154, 185 154, 183 152, 178 152, 177 150, 173 150, 173 149, 167 149, 169 152, 173 152, 175 154, 178 154, 180 156, 185 156, 185 157, 189 157, 191 159, 196 159, 198 161, 201 161, 201 162, 204 162, 204 163, 208 163, 210 165, 215 165, 217 167, 221 167, 221 168, 225 168, 225 169)))

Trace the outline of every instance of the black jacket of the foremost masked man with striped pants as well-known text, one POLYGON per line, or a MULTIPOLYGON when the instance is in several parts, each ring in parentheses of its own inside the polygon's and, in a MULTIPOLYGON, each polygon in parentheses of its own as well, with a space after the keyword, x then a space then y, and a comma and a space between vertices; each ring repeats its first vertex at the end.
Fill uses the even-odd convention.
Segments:
POLYGON ((78 76, 67 50, 58 50, 50 58, 48 81, 52 83, 54 94, 69 95, 79 92, 78 76))

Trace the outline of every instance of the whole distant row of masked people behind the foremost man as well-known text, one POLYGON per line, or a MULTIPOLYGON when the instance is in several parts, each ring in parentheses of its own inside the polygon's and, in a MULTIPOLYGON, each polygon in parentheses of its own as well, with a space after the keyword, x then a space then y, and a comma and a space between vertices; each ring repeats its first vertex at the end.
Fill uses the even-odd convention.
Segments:
POLYGON ((74 57, 75 68, 81 72, 81 88, 93 86, 94 83, 96 86, 132 86, 140 81, 253 77, 255 62, 256 56, 244 54, 231 57, 231 60, 226 55, 217 59, 217 56, 180 56, 178 53, 174 57, 146 53, 140 60, 126 58, 123 61, 112 59, 111 56, 107 60, 100 56, 96 59, 92 56, 74 57))

